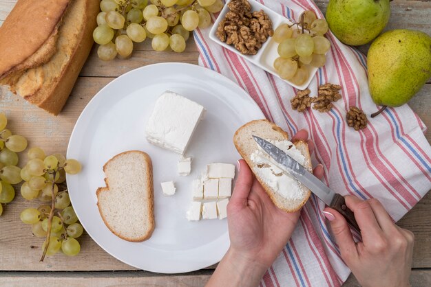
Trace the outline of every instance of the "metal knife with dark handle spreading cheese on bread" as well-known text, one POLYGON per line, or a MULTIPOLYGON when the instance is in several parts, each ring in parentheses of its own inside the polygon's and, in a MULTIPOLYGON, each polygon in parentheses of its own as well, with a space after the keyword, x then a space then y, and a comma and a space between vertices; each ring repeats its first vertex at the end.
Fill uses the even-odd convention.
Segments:
POLYGON ((359 226, 355 220, 355 216, 353 215, 353 211, 348 209, 343 196, 330 190, 329 187, 317 179, 316 176, 314 176, 311 172, 308 172, 306 168, 300 165, 288 154, 280 150, 280 148, 277 148, 277 146, 274 146, 269 141, 254 135, 253 139, 255 139, 257 144, 266 153, 268 153, 270 157, 275 159, 277 163, 280 163, 286 172, 291 174, 291 176, 297 179, 297 181, 305 185, 318 198, 322 199, 326 205, 337 210, 342 216, 344 216, 344 218, 346 218, 346 221, 351 227, 360 232, 359 226))

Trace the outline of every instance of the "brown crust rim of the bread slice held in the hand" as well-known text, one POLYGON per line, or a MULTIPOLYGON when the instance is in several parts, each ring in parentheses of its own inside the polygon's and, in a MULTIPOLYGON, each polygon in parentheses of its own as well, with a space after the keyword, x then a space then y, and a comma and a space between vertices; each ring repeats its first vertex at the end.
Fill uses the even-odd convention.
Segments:
MULTIPOLYGON (((268 194, 269 198, 271 198, 271 201, 275 204, 275 206, 277 206, 278 208, 280 208, 280 209, 282 209, 283 211, 286 211, 286 212, 295 212, 295 211, 298 211, 299 209, 301 209, 305 205, 305 203, 307 202, 308 198, 310 198, 311 191, 310 190, 306 190, 306 196, 304 197, 304 200, 302 200, 302 203, 300 203, 299 205, 297 205, 295 208, 288 209, 288 208, 284 207, 281 203, 279 203, 279 201, 277 200, 277 198, 275 198, 275 194, 272 191, 271 187, 269 187, 269 185, 267 185, 264 182, 264 180, 261 179, 260 176, 258 176, 255 173, 254 169, 252 168, 253 165, 254 165, 254 163, 247 156, 246 152, 242 149, 242 147, 240 145, 240 140, 239 140, 239 137, 238 137, 239 133, 241 133, 242 129, 248 128, 249 126, 253 126, 253 124, 255 124, 257 122, 266 122, 267 124, 270 124, 271 128, 273 130, 275 130, 277 133, 280 133, 280 135, 283 137, 283 139, 289 140, 288 134, 286 133, 286 131, 284 131, 282 128, 280 128, 280 126, 277 126, 273 122, 269 122, 267 119, 256 119, 256 120, 253 120, 251 122, 248 122, 248 123, 244 124, 243 126, 241 126, 240 128, 238 128, 238 130, 235 132, 235 135, 233 135, 233 143, 235 144, 235 148, 241 154, 242 158, 246 161, 246 163, 249 165, 249 167, 251 167, 250 168, 251 172, 253 172, 253 174, 255 175, 255 178, 257 179, 257 181, 259 181, 260 185, 262 185, 262 187, 264 188, 266 194, 268 194)), ((254 141, 253 138, 251 140, 254 141)), ((304 147, 304 149, 302 148, 301 151, 302 151, 302 154, 304 155, 304 157, 307 159, 308 166, 306 166, 306 168, 307 168, 308 171, 312 172, 310 152, 308 150, 308 144, 306 143, 306 141, 304 141, 304 140, 293 141, 293 144, 295 144, 295 146, 302 146, 302 147, 304 147)))

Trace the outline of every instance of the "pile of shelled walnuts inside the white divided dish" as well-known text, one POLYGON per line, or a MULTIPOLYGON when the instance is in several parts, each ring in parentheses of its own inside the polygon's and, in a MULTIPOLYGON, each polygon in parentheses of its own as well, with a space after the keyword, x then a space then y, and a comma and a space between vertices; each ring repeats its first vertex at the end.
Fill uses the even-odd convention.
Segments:
POLYGON ((251 12, 251 5, 246 0, 233 0, 227 5, 230 11, 215 34, 220 41, 233 45, 242 54, 257 54, 257 50, 274 33, 271 19, 263 10, 251 12))

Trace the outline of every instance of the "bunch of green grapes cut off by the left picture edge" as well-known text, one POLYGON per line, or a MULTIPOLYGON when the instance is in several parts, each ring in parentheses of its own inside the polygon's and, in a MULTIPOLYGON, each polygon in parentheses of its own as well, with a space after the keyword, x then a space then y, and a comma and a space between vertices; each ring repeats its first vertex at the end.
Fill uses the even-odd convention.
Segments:
POLYGON ((6 128, 8 118, 0 113, 0 215, 1 203, 10 203, 15 197, 12 185, 21 183, 21 168, 17 167, 18 153, 27 148, 27 139, 21 135, 12 135, 6 128))

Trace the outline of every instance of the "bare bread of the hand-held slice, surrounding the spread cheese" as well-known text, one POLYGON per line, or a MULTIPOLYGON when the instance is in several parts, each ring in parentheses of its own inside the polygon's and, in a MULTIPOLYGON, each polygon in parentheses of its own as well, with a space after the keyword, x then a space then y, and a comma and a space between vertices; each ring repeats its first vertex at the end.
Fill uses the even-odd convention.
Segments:
MULTIPOLYGON (((251 121, 244 126, 240 127, 235 135, 233 136, 233 142, 235 147, 240 152, 246 163, 250 166, 251 171, 255 174, 257 181, 260 182, 264 190, 269 195, 273 203, 280 209, 286 212, 294 212, 306 203, 311 195, 310 190, 302 185, 304 196, 295 200, 288 200, 275 192, 269 185, 265 183, 265 180, 260 178, 257 173, 257 166, 251 161, 251 154, 257 150, 257 143, 253 139, 253 135, 262 137, 262 139, 273 139, 275 141, 288 140, 287 133, 282 130, 279 126, 267 121, 266 119, 259 119, 251 121)), ((312 170, 310 152, 308 151, 308 144, 306 141, 295 141, 295 147, 304 155, 306 162, 304 167, 309 171, 312 170)))

